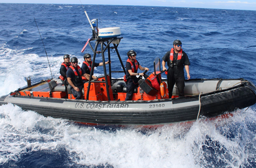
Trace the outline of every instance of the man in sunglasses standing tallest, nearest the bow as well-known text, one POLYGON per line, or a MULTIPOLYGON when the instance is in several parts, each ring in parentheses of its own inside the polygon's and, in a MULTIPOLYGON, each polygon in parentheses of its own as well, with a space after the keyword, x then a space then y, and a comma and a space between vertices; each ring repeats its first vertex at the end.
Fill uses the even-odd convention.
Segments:
POLYGON ((173 95, 173 88, 176 86, 179 91, 179 96, 184 96, 185 77, 184 66, 187 73, 187 79, 190 79, 189 65, 187 54, 181 49, 182 43, 180 40, 173 42, 173 48, 167 51, 162 58, 163 70, 166 70, 165 63, 167 62, 167 85, 169 91, 169 98, 173 95))

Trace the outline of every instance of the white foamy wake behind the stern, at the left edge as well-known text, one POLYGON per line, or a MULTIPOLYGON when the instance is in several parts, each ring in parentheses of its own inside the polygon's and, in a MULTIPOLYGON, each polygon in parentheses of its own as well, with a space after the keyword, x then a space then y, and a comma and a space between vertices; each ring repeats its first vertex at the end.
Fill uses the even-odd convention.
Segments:
MULTIPOLYGON (((24 54, 27 49, 13 50, 5 44, 0 48, 0 96, 9 94, 18 88, 27 85, 27 77, 32 81, 51 78, 47 57, 39 57, 37 54, 24 54)), ((49 56, 49 62, 53 77, 59 75, 59 67, 62 58, 49 56)))

